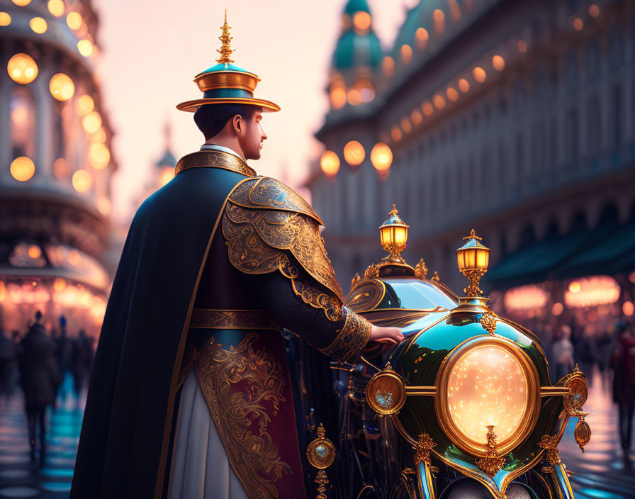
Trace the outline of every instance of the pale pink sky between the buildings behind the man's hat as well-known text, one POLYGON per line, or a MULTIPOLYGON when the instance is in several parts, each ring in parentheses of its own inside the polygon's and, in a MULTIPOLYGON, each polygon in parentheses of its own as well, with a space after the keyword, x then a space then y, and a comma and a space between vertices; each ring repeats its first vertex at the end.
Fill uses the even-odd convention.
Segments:
MULTIPOLYGON (((203 135, 191 113, 177 103, 201 96, 193 77, 215 65, 227 8, 236 65, 259 75, 255 95, 278 103, 266 114, 259 174, 301 184, 311 157, 321 153, 313 138, 328 101, 327 69, 346 0, 96 0, 101 18, 99 78, 106 112, 116 132, 113 215, 136 209, 150 169, 164 151, 163 129, 172 124, 172 152, 197 150, 203 135)), ((415 0, 369 0, 373 27, 383 46, 393 42, 415 0)))

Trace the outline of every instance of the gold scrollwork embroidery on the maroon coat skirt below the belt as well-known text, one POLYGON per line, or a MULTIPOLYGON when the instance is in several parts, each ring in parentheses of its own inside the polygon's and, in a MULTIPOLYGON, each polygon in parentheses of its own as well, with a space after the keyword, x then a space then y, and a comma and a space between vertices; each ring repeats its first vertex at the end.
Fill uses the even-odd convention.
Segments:
POLYGON ((271 415, 265 404, 275 416, 285 401, 281 366, 264 348, 253 349, 257 337, 249 333, 229 350, 212 338, 198 352, 196 374, 232 469, 250 498, 269 499, 278 497, 275 483, 291 466, 266 431, 271 415), (234 391, 243 383, 246 391, 234 391))

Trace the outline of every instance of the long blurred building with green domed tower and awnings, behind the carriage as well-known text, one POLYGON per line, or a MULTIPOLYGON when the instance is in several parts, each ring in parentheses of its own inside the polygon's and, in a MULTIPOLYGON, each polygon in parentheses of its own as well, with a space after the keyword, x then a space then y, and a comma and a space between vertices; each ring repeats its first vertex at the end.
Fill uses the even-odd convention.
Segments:
POLYGON ((457 291, 476 228, 498 309, 632 315, 634 62, 632 1, 423 0, 386 52, 348 1, 308 180, 337 275, 381 257, 396 203, 409 262, 457 291))

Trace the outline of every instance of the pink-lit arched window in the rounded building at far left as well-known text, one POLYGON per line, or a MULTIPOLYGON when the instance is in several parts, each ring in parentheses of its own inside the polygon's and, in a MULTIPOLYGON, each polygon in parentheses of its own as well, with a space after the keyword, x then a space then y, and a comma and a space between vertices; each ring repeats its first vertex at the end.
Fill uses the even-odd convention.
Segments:
POLYGON ((35 159, 35 98, 26 86, 11 91, 11 159, 35 159))

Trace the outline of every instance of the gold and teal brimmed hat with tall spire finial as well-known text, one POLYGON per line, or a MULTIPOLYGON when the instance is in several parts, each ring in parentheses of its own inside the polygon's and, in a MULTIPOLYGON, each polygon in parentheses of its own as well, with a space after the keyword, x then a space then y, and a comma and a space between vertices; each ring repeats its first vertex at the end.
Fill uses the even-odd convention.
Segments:
POLYGON ((262 107, 263 111, 280 111, 280 106, 271 101, 254 98, 254 89, 260 81, 256 74, 250 73, 242 67, 232 64, 230 55, 233 50, 230 48, 231 26, 227 26, 227 11, 225 11, 225 24, 220 27, 223 34, 218 39, 223 43, 220 50, 220 57, 216 60, 217 65, 198 73, 194 77, 194 82, 203 91, 203 99, 181 102, 177 109, 180 111, 190 111, 193 113, 198 106, 206 104, 249 104, 251 106, 262 107))

